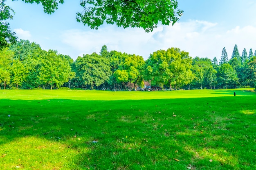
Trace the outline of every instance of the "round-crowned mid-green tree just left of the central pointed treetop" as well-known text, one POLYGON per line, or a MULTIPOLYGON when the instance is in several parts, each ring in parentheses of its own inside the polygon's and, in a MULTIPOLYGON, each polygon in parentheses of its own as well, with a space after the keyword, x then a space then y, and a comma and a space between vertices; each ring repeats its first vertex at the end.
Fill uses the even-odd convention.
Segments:
POLYGON ((108 60, 96 53, 83 54, 83 57, 78 57, 75 67, 78 72, 77 76, 85 85, 90 85, 91 90, 94 85, 99 86, 107 81, 111 75, 108 60))

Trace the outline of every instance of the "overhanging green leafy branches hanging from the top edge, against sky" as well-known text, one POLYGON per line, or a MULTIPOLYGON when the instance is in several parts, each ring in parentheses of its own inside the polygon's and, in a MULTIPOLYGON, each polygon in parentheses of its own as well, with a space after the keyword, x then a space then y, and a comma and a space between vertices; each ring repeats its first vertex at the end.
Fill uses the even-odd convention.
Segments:
MULTIPOLYGON (((58 3, 64 0, 22 0, 43 5, 45 13, 53 13, 58 3)), ((82 12, 76 13, 76 20, 92 29, 98 29, 104 22, 119 27, 144 28, 146 32, 163 25, 174 24, 183 11, 177 9, 177 0, 81 0, 82 12)))

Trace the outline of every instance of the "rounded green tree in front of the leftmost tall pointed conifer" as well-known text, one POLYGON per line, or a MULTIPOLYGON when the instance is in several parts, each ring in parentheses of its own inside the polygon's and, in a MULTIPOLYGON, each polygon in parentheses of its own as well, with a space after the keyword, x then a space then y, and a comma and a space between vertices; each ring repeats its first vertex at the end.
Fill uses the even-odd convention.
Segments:
POLYGON ((229 83, 236 83, 238 81, 236 71, 228 63, 220 65, 218 79, 220 85, 226 85, 226 89, 229 83))

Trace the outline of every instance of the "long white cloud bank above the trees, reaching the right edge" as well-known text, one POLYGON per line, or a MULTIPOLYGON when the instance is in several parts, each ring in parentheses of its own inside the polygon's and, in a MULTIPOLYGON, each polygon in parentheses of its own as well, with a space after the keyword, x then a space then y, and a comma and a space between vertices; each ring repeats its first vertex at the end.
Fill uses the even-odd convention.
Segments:
POLYGON ((231 57, 234 45, 240 53, 243 48, 256 50, 256 27, 239 26, 225 30, 217 23, 190 20, 178 22, 174 26, 159 25, 151 33, 141 28, 116 28, 105 26, 99 30, 67 30, 61 35, 63 44, 71 47, 76 54, 99 53, 105 44, 108 50, 117 50, 129 54, 138 54, 147 59, 150 53, 171 47, 177 47, 190 53, 191 57, 208 57, 220 59, 223 47, 231 57))

